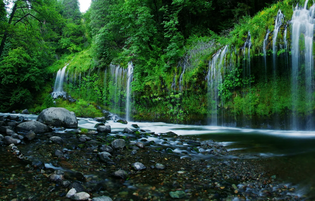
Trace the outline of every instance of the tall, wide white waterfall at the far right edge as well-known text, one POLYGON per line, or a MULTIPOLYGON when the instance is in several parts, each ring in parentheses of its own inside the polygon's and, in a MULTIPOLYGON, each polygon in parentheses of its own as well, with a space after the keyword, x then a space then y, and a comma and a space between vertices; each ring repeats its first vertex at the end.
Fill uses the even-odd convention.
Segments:
MULTIPOLYGON (((298 4, 294 8, 291 25, 292 25, 292 100, 293 100, 293 117, 292 117, 292 129, 298 129, 298 114, 297 106, 298 101, 301 99, 301 93, 299 91, 303 90, 303 86, 306 89, 305 105, 306 111, 312 112, 312 101, 313 101, 313 32, 314 32, 314 11, 315 4, 307 9, 308 0, 305 1, 304 7, 300 7, 298 4), (300 49, 299 41, 303 41, 301 37, 304 37, 304 46, 300 49), (305 66, 304 69, 302 66, 305 66), (304 72, 303 74, 300 73, 304 72), (302 78, 300 78, 302 77, 302 78), (305 81, 305 83, 300 83, 300 80, 305 81)), ((310 120, 310 119, 309 119, 310 120)), ((308 122, 309 126, 313 123, 308 122)), ((309 128, 310 129, 310 128, 309 128)))

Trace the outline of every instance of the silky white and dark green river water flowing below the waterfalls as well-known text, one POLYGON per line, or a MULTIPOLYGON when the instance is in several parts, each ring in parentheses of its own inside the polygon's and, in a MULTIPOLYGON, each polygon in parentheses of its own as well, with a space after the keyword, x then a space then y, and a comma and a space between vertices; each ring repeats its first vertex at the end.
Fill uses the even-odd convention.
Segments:
MULTIPOLYGON (((3 116, 9 114, 11 113, 0 113, 3 116)), ((36 120, 37 118, 37 115, 13 115, 18 115, 20 119, 36 120)), ((257 160, 260 163, 259 165, 264 167, 268 174, 276 175, 279 181, 297 187, 300 196, 307 195, 308 197, 315 198, 315 193, 313 192, 315 187, 315 132, 143 122, 128 122, 125 125, 114 121, 107 122, 106 124, 111 125, 112 133, 119 134, 125 127, 134 129, 131 124, 135 123, 140 129, 146 132, 166 133, 172 131, 177 135, 196 136, 202 142, 215 141, 223 145, 229 152, 235 153, 233 155, 221 156, 219 157, 220 159, 259 159, 257 160)), ((96 123, 99 122, 93 121, 91 118, 78 118, 78 127, 80 128, 96 130, 94 128, 96 123)), ((70 130, 65 129, 60 131, 66 134, 70 130)), ((158 145, 163 144, 162 140, 156 138, 151 139, 148 137, 147 140, 154 140, 158 145)), ((164 146, 173 147, 174 154, 185 151, 180 149, 180 147, 176 147, 176 143, 177 141, 174 141, 164 146)), ((23 149, 27 150, 26 147, 23 148, 22 146, 20 150, 23 149)), ((29 155, 31 156, 32 152, 29 155)), ((2 155, 1 158, 7 160, 6 157, 8 156, 2 155)), ((185 158, 186 156, 180 157, 185 158)), ((205 156, 198 153, 192 153, 190 157, 192 157, 192 160, 210 160, 214 158, 211 155, 205 156)), ((54 167, 53 164, 46 164, 46 167, 50 166, 54 167)), ((18 167, 18 165, 15 167, 18 167)))

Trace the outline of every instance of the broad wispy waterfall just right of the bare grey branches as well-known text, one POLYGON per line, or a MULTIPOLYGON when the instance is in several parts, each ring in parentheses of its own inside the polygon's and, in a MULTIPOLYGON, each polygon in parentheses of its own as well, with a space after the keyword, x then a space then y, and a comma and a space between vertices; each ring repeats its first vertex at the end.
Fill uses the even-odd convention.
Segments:
MULTIPOLYGON (((218 106, 221 105, 223 110, 223 100, 221 98, 221 103, 219 96, 221 87, 224 79, 224 66, 226 60, 226 52, 228 45, 220 49, 215 55, 212 56, 212 59, 209 61, 209 71, 207 75, 208 80, 208 105, 209 111, 211 112, 211 125, 218 125, 218 106)), ((221 91, 222 93, 222 91, 221 91)), ((223 112, 223 111, 222 111, 223 112)), ((223 115, 222 123, 223 123, 223 115)))

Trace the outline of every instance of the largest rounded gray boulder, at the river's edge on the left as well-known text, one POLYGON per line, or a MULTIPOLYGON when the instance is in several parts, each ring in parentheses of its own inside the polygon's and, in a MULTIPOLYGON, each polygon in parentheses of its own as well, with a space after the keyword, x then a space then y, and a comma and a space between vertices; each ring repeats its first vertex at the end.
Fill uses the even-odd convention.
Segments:
POLYGON ((70 129, 78 126, 78 120, 74 112, 62 107, 44 109, 37 117, 37 121, 46 125, 62 126, 70 129))

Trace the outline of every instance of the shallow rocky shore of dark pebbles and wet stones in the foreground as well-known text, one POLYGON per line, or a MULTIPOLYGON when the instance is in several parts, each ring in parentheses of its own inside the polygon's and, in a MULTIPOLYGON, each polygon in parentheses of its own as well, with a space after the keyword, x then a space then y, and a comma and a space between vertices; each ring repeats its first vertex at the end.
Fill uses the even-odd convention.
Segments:
POLYGON ((308 200, 215 141, 40 117, 0 117, 0 200, 308 200))

